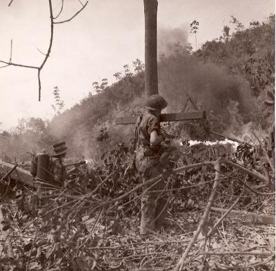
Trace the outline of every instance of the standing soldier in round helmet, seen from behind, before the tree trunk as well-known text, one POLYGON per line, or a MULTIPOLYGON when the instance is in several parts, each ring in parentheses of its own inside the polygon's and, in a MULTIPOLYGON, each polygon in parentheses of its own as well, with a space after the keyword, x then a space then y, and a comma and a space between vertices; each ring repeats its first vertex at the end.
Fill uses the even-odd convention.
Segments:
MULTIPOLYGON (((164 136, 160 131, 159 117, 167 102, 160 95, 151 95, 144 106, 146 112, 137 119, 135 124, 137 142, 135 165, 143 183, 164 172, 164 162, 160 162, 161 142, 164 136)), ((160 190, 165 186, 162 179, 155 185, 144 187, 141 197, 140 236, 142 239, 152 234, 155 228, 164 225, 167 199, 160 190)))

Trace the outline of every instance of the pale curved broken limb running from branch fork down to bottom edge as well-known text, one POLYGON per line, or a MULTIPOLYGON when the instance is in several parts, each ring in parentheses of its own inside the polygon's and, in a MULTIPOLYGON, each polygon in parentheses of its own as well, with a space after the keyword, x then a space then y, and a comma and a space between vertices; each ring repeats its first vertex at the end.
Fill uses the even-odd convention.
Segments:
POLYGON ((208 203, 206 205, 206 209, 204 211, 204 214, 201 218, 201 221, 197 227, 197 230, 193 236, 192 239, 190 239, 190 242, 188 243, 188 246, 186 247, 186 250, 184 252, 184 254, 182 254, 181 259, 179 260, 179 262, 177 263, 177 265, 175 266, 174 271, 181 271, 182 268, 185 266, 185 260, 188 256, 188 253, 190 252, 190 249, 193 247, 193 245, 195 244, 195 242, 197 241, 197 237, 199 236, 202 228, 204 227, 204 224, 207 222, 208 220, 208 215, 210 213, 210 209, 212 207, 213 201, 215 199, 215 194, 217 191, 217 187, 219 185, 219 176, 220 176, 220 165, 219 165, 219 161, 215 162, 214 164, 214 168, 215 168, 215 182, 213 185, 213 189, 212 189, 212 193, 210 195, 210 198, 208 200, 208 203))

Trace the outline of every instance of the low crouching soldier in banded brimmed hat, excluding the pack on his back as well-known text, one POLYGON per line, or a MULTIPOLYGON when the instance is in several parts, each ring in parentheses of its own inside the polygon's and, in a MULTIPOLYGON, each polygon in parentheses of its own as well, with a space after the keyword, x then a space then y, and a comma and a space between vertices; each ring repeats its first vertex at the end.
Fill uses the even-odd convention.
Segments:
POLYGON ((66 157, 66 142, 59 142, 52 145, 52 153, 50 156, 50 173, 52 174, 52 180, 58 185, 62 185, 66 179, 66 168, 63 166, 63 159, 66 157))

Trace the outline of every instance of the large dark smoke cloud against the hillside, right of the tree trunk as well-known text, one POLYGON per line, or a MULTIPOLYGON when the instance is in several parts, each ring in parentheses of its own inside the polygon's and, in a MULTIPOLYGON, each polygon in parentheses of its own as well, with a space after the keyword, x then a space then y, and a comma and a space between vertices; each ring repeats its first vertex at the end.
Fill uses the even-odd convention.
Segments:
POLYGON ((174 53, 159 62, 159 92, 168 100, 168 111, 213 111, 217 131, 229 127, 238 131, 253 110, 243 77, 231 75, 223 66, 201 62, 195 55, 174 53))

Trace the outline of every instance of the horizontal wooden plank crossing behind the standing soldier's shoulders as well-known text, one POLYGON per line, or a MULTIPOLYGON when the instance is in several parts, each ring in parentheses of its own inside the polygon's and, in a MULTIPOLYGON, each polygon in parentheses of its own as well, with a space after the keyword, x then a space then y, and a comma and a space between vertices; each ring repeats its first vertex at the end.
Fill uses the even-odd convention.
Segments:
MULTIPOLYGON (((115 118, 115 124, 135 124, 138 115, 115 118)), ((161 114, 160 122, 179 122, 181 120, 204 120, 206 111, 165 113, 161 114)))

